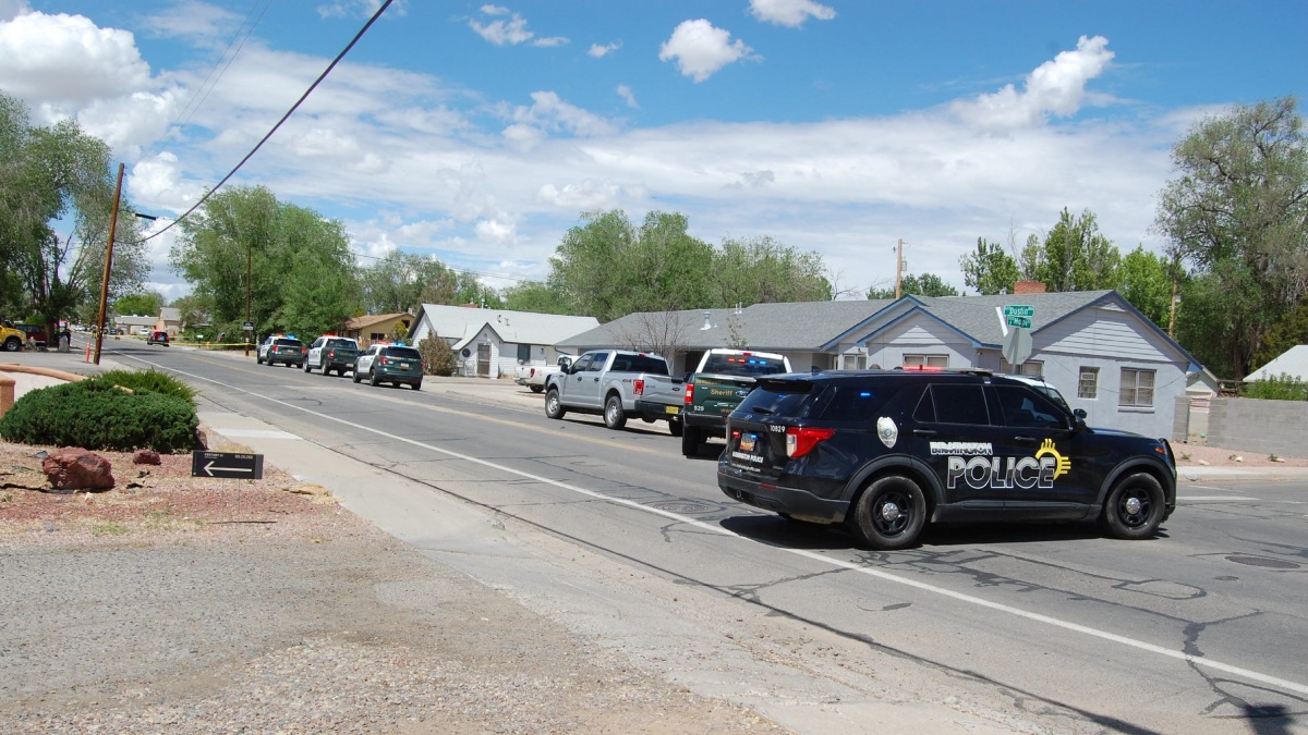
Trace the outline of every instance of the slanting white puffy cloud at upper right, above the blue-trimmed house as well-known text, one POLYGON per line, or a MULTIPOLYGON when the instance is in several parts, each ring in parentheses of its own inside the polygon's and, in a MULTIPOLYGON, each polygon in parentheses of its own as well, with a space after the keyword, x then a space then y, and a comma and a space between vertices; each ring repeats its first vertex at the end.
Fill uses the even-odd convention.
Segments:
POLYGON ((1024 89, 1007 85, 993 94, 959 101, 951 110, 968 123, 988 129, 1037 126, 1050 115, 1075 115, 1086 102, 1086 84, 1113 60, 1108 39, 1080 37, 1075 51, 1063 51, 1027 75, 1024 89))

